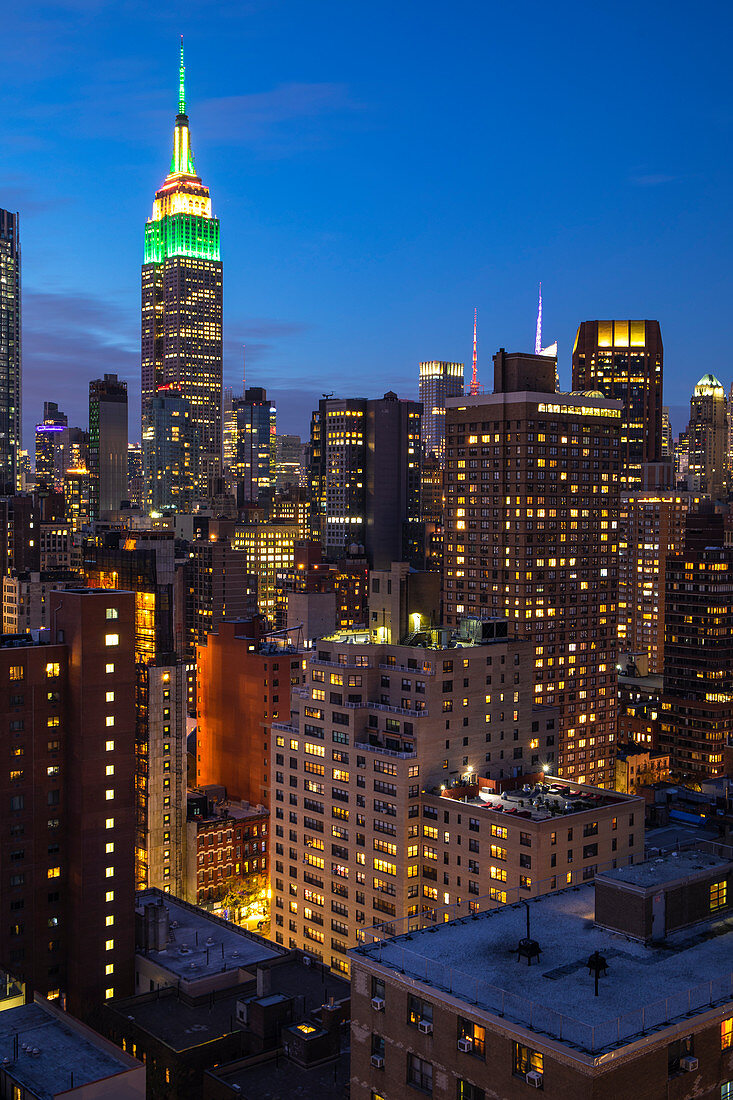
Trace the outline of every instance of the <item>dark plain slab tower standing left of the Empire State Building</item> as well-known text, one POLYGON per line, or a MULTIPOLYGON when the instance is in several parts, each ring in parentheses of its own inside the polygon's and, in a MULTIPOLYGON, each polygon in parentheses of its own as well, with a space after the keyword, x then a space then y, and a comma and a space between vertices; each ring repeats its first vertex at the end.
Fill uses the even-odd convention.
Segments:
POLYGON ((128 384, 116 374, 89 383, 89 490, 91 519, 128 499, 128 384))

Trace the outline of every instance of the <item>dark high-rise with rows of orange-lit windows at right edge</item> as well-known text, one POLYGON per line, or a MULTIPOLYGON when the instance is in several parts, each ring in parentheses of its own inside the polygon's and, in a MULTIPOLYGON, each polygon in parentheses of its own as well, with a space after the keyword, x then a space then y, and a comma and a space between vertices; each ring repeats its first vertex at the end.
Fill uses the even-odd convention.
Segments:
POLYGON ((659 747, 674 772, 698 780, 725 773, 733 738, 732 583, 723 516, 689 513, 685 548, 667 560, 659 747))

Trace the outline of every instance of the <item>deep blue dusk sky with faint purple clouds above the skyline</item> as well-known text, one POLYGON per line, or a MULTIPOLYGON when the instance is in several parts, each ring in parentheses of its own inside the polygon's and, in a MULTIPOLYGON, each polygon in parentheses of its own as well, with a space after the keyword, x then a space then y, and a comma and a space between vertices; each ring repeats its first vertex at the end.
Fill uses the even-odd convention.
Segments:
POLYGON ((128 381, 139 439, 143 226, 169 164, 178 35, 196 166, 221 220, 225 384, 282 431, 321 392, 415 396, 578 322, 661 324, 683 427, 727 389, 733 9, 722 2, 232 0, 7 4, 0 206, 21 213, 24 442, 128 381))

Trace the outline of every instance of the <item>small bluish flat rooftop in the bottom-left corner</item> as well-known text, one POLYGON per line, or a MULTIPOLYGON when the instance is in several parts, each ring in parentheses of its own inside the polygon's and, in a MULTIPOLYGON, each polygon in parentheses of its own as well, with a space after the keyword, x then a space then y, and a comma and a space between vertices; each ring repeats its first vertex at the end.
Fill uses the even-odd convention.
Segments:
POLYGON ((41 1100, 53 1100, 72 1088, 72 1071, 73 1086, 79 1088, 127 1072, 135 1065, 121 1050, 119 1058, 111 1054, 107 1043, 100 1041, 97 1046, 85 1032, 40 1004, 0 1012, 0 1058, 3 1074, 41 1100), (13 1062, 15 1035, 20 1053, 13 1062))

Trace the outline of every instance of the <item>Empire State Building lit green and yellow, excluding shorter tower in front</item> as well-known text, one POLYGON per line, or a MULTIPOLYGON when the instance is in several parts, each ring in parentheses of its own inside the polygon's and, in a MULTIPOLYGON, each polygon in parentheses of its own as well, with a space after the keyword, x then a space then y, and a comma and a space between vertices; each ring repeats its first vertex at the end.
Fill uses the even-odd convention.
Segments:
POLYGON ((171 172, 145 226, 142 431, 160 387, 175 386, 190 406, 195 491, 206 498, 221 475, 222 265, 219 220, 194 167, 184 72, 182 40, 171 172))

